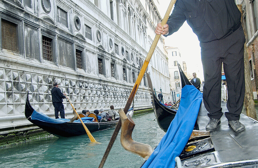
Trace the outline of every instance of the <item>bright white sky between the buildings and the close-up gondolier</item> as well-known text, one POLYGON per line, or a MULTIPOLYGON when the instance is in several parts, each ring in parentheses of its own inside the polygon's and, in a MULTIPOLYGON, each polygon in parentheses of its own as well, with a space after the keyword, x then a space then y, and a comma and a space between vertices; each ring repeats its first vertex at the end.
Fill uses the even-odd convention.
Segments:
MULTIPOLYGON (((169 3, 170 0, 162 0, 159 1, 159 6, 157 5, 162 18, 165 15, 169 3)), ((200 78, 201 81, 204 80, 200 42, 187 22, 184 22, 183 26, 177 32, 168 37, 163 36, 163 38, 165 39, 166 46, 179 48, 182 61, 186 62, 187 73, 192 74, 196 72, 197 78, 200 78)))

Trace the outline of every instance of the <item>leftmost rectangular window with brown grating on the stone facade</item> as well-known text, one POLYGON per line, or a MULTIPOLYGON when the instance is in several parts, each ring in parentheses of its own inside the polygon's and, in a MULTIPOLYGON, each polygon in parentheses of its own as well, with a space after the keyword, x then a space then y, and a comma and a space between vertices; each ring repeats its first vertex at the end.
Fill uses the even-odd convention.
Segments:
POLYGON ((14 52, 19 52, 18 47, 18 25, 12 22, 2 21, 2 47, 14 52))

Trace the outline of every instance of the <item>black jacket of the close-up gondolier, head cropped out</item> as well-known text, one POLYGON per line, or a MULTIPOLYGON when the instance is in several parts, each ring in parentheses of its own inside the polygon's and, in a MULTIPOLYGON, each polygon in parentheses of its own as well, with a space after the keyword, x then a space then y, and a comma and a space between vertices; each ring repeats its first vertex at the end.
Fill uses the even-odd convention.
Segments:
POLYGON ((169 33, 178 31, 184 21, 202 43, 227 37, 241 25, 241 12, 234 0, 177 0, 168 18, 169 33))

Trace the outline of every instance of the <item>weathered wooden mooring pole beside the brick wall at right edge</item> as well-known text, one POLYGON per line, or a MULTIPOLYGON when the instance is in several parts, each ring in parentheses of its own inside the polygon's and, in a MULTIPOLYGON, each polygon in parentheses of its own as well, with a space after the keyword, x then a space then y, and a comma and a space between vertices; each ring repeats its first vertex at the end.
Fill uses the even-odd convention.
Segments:
MULTIPOLYGON (((242 13, 241 22, 242 22, 242 27, 243 27, 244 33, 245 33, 245 38, 247 39, 247 34, 246 34, 245 26, 243 23, 242 5, 237 5, 237 7, 240 10, 240 12, 242 13)), ((254 106, 253 89, 252 89, 251 79, 250 79, 250 66, 249 66, 249 61, 248 61, 246 42, 245 42, 245 46, 244 46, 244 64, 245 64, 245 100, 244 100, 244 103, 245 103, 246 115, 257 120, 256 113, 255 113, 255 106, 254 106)))

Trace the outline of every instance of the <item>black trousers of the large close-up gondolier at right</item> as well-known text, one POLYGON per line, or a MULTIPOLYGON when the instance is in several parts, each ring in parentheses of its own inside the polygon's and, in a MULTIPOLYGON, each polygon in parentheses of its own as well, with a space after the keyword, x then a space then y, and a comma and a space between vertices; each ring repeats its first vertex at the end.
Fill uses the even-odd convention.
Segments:
POLYGON ((223 62, 228 87, 228 112, 225 112, 225 116, 228 121, 239 120, 245 96, 244 44, 242 26, 223 39, 200 43, 205 80, 203 103, 210 118, 220 119, 223 114, 221 108, 223 62))

